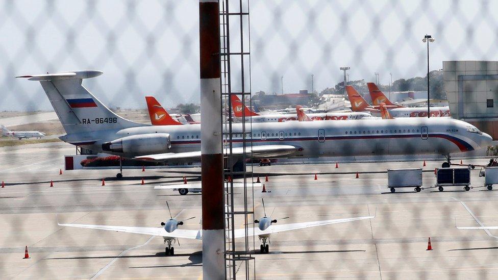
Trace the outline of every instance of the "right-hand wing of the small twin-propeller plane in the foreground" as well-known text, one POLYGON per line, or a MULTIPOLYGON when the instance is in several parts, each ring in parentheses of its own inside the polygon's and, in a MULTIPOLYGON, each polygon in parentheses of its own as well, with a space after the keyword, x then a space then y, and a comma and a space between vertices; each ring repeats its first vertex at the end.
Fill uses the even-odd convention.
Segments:
MULTIPOLYGON (((266 230, 264 230, 264 231, 261 231, 258 227, 248 228, 248 236, 294 231, 294 230, 300 230, 301 228, 321 226, 321 225, 334 224, 334 223, 344 223, 344 222, 366 220, 366 219, 371 219, 374 217, 375 216, 367 216, 367 217, 356 217, 356 218, 335 219, 335 220, 314 221, 314 222, 272 224, 272 225, 268 226, 268 228, 266 228, 266 230)), ((245 229, 244 228, 239 228, 239 229, 235 230, 235 238, 244 237, 244 236, 245 236, 245 229)))

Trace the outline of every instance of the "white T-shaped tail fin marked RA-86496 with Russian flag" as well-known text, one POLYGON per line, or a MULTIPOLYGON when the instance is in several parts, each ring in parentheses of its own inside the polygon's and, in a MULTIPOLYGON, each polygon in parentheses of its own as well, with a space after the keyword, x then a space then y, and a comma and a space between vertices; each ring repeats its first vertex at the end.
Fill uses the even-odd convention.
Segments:
POLYGON ((67 134, 143 126, 116 115, 82 86, 83 79, 102 74, 102 71, 83 70, 23 75, 16 78, 27 78, 41 83, 67 134))

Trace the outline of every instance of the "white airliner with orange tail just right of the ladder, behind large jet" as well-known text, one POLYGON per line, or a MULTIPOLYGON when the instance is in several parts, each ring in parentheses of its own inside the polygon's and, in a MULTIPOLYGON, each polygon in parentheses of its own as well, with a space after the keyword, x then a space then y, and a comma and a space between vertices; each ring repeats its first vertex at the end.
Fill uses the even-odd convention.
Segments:
MULTIPOLYGON (((283 122, 298 120, 297 114, 260 115, 243 105, 237 95, 232 96, 232 108, 236 118, 242 118, 242 111, 244 111, 246 121, 249 121, 249 118, 251 118, 251 122, 283 122)), ((300 106, 300 108, 301 110, 306 111, 306 108, 303 108, 302 106, 300 106)), ((307 114, 307 116, 310 117, 311 120, 346 120, 371 117, 369 113, 365 112, 312 113, 307 114)))

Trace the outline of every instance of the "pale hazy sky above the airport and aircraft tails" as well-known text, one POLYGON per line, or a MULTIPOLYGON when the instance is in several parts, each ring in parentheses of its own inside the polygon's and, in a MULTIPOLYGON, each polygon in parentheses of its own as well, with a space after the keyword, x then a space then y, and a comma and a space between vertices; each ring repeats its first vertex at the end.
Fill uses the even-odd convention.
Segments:
MULTIPOLYGON (((280 93, 283 76, 284 92, 311 91, 313 74, 319 92, 342 81, 341 66, 350 80, 378 72, 382 84, 389 73, 424 76, 425 34, 436 39, 431 69, 496 60, 493 11, 498 1, 252 0, 251 89, 280 93)), ((104 71, 83 83, 110 107, 145 108, 145 95, 168 108, 198 103, 198 24, 194 0, 1 0, 0 110, 51 109, 38 82, 16 75, 79 69, 104 71)))

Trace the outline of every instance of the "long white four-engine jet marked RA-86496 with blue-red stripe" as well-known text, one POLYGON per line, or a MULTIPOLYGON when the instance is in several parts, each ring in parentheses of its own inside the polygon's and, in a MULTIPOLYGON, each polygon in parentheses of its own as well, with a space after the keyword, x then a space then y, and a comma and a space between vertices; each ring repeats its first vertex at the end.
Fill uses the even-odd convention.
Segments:
MULTIPOLYGON (((27 75, 40 81, 66 131, 60 139, 122 157, 161 162, 201 158, 201 124, 148 125, 124 119, 82 86, 103 72, 27 75)), ((233 155, 242 155, 242 124, 232 126, 233 155)), ((359 119, 252 124, 254 158, 437 154, 486 147, 491 137, 451 118, 359 119)), ((118 177, 120 177, 118 173, 118 177)))

